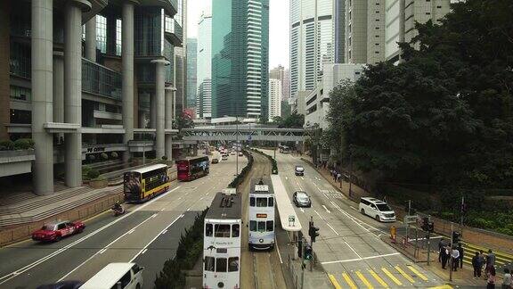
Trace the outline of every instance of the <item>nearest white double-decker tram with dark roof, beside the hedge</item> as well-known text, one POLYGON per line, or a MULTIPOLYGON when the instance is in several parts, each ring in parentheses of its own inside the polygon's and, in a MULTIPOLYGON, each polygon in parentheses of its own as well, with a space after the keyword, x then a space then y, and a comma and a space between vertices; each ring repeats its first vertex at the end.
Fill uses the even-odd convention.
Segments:
POLYGON ((241 198, 235 189, 217 193, 205 216, 203 288, 240 288, 241 198))

